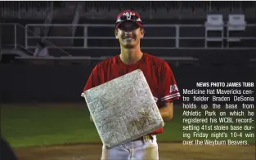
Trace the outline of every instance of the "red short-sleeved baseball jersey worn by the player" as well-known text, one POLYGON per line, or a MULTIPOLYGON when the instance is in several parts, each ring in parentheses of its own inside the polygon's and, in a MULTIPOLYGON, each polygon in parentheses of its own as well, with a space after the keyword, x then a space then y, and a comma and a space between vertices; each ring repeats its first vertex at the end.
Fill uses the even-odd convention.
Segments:
MULTIPOLYGON (((92 70, 88 82, 83 88, 83 92, 136 69, 141 69, 144 73, 159 108, 164 106, 165 102, 179 99, 180 93, 177 83, 168 63, 147 53, 144 53, 141 60, 136 64, 124 64, 119 55, 103 60, 92 70)), ((159 128, 159 130, 154 131, 152 134, 159 134, 163 131, 164 128, 159 128)))

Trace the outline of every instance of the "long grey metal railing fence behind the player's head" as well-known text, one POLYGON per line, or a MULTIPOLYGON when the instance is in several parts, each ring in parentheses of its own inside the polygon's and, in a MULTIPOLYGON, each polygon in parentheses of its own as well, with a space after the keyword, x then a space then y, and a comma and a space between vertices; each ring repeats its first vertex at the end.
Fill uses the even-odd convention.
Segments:
MULTIPOLYGON (((26 29, 37 29, 42 25, 59 31, 46 38, 62 49, 118 49, 114 24, 27 24, 26 29), (73 25, 76 35, 65 35, 73 25), (74 44, 70 43, 74 39, 74 44)), ((256 49, 256 24, 246 24, 245 30, 209 30, 204 24, 145 24, 146 33, 141 41, 144 49, 256 49)), ((40 37, 25 33, 25 48, 35 47, 40 37)))

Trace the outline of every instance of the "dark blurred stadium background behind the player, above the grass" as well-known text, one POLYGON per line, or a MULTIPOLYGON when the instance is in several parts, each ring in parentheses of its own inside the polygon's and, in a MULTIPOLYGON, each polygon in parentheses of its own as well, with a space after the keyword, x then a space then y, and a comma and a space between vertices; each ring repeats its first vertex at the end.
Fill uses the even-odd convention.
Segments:
POLYGON ((115 17, 141 14, 142 51, 179 87, 255 82, 256 2, 0 2, 2 102, 81 101, 92 67, 119 54, 115 17), (35 58, 44 39, 50 56, 35 58))

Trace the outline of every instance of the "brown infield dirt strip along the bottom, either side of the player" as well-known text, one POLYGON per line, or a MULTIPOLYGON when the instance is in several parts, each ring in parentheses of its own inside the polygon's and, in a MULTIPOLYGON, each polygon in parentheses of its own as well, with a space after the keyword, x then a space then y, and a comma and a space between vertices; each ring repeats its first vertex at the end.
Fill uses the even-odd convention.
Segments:
MULTIPOLYGON (((63 144, 15 149, 19 160, 99 160, 101 144, 63 144)), ((159 160, 255 160, 255 145, 159 143, 159 160)))

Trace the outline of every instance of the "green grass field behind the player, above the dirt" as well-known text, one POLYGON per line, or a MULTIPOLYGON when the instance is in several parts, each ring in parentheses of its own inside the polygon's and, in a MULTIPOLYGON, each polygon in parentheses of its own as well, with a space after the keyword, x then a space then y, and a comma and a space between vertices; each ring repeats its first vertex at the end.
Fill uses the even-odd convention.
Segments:
MULTIPOLYGON (((81 107, 81 104, 78 107, 75 105, 72 107, 73 104, 66 104, 60 107, 61 104, 56 106, 54 104, 51 106, 49 104, 40 106, 2 104, 2 136, 13 147, 101 142, 94 124, 90 122, 88 109, 81 107)), ((158 136, 159 141, 187 140, 182 137, 182 111, 182 108, 174 109, 173 121, 165 123, 164 133, 158 136)), ((255 123, 252 125, 255 126, 255 123)), ((255 133, 255 129, 251 132, 255 133)), ((254 137, 239 137, 236 140, 238 139, 248 140, 250 144, 255 143, 254 137)))

